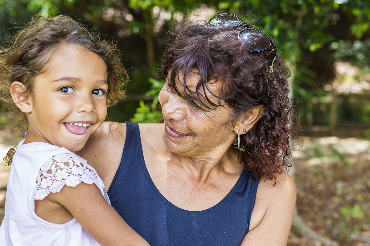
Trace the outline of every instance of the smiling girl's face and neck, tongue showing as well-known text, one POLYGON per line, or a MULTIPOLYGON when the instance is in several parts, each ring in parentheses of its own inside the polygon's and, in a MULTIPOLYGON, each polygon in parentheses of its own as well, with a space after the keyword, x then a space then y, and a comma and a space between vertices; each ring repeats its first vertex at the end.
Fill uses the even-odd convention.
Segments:
POLYGON ((46 66, 27 98, 25 143, 47 142, 80 150, 107 116, 105 64, 82 46, 63 45, 51 53, 46 66))

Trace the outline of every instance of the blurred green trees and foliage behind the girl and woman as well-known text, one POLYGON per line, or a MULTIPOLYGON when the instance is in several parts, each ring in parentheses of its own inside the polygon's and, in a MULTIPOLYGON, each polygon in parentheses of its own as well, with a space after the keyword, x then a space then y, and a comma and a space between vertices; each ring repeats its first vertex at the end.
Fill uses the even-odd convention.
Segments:
POLYGON ((364 82, 367 92, 370 8, 366 0, 0 0, 0 42, 36 14, 67 14, 97 28, 120 46, 129 71, 127 101, 110 109, 107 118, 125 121, 155 97, 145 94, 152 85, 149 78, 164 79, 158 69, 168 28, 184 15, 210 18, 219 11, 243 16, 273 37, 292 73, 292 92, 300 104, 304 129, 330 124, 335 128, 338 121, 368 124, 369 117, 361 115, 369 107, 350 105, 350 98, 336 100, 342 92, 334 88, 339 82, 333 84, 336 60, 351 62, 363 75, 363 81, 352 77, 351 83, 364 82), (333 101, 341 105, 332 105, 333 101), (337 108, 342 106, 357 111, 339 114, 337 108))

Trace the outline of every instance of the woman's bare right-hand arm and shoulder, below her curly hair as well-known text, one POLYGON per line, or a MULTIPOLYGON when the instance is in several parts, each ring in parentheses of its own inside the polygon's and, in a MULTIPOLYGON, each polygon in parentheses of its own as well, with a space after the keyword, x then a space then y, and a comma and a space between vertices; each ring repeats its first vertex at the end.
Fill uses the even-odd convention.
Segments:
POLYGON ((241 246, 286 246, 296 203, 296 188, 287 173, 277 175, 276 186, 261 178, 250 219, 250 230, 241 246))

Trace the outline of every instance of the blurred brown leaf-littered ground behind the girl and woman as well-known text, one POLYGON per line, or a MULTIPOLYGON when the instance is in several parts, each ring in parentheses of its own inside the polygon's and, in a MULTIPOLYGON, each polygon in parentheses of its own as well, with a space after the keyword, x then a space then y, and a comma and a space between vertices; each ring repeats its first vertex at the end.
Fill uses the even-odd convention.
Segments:
MULTIPOLYGON (((1 121, 1 118, 0 118, 1 121)), ((22 139, 12 127, 0 130, 0 155, 22 139)), ((303 137, 293 148, 291 171, 297 211, 307 226, 340 246, 370 246, 370 141, 361 138, 303 137)), ((9 167, 0 165, 0 221, 9 167)), ((321 246, 292 228, 288 246, 321 246)))

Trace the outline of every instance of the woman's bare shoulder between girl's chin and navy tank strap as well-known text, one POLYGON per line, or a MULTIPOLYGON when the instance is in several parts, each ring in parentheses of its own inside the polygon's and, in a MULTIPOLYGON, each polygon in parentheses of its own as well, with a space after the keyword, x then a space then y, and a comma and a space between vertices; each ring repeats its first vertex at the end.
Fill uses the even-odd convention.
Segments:
POLYGON ((103 122, 90 136, 84 148, 75 152, 94 167, 107 190, 120 166, 125 138, 126 124, 103 122))

